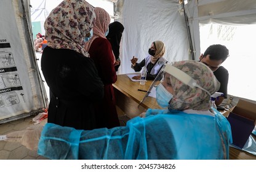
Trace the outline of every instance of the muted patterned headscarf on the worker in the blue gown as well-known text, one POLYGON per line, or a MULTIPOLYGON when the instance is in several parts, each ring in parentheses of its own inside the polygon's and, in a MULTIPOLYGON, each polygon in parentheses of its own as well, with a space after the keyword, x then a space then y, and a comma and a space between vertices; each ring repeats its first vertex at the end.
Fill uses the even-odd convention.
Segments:
MULTIPOLYGON (((206 89, 210 95, 218 91, 220 82, 214 76, 212 70, 199 61, 177 61, 174 67, 185 72, 196 80, 197 84, 206 89)), ((198 87, 191 88, 170 74, 170 83, 174 89, 174 97, 170 100, 169 109, 183 111, 194 109, 207 111, 210 109, 210 95, 198 87)))

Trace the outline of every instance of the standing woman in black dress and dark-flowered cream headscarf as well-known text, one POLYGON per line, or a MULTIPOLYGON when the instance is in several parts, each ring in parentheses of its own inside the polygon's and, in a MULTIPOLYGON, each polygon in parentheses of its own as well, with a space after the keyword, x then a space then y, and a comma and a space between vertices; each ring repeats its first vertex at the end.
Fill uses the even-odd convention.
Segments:
POLYGON ((47 47, 41 69, 50 88, 48 122, 76 129, 97 127, 93 103, 103 97, 103 83, 84 50, 95 20, 83 0, 62 1, 46 18, 47 47))

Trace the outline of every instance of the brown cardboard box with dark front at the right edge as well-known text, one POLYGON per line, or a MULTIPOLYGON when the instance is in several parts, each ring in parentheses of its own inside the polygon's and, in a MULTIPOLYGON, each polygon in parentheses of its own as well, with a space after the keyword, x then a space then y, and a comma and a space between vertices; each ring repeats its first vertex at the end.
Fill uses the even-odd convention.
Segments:
POLYGON ((239 100, 227 119, 231 125, 233 145, 242 149, 256 125, 256 104, 239 100))

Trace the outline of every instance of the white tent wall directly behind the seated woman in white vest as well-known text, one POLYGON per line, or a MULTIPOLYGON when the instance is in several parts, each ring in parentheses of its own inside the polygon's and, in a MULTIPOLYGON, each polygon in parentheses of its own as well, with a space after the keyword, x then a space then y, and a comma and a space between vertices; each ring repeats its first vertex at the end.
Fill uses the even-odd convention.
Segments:
POLYGON ((164 42, 169 62, 191 59, 188 32, 182 6, 177 0, 119 0, 122 4, 122 58, 121 72, 134 72, 130 59, 138 62, 148 55, 151 43, 164 42))

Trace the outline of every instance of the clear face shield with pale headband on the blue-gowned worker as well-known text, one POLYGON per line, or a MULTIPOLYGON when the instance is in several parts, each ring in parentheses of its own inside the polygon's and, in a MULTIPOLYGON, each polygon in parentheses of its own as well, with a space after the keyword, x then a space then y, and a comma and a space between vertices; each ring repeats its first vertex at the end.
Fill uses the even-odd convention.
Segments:
MULTIPOLYGON (((141 106, 143 103, 146 103, 147 101, 151 100, 152 98, 156 98, 156 87, 164 81, 164 76, 166 73, 170 74, 171 76, 175 77, 177 80, 183 82, 183 84, 188 85, 191 88, 200 88, 202 91, 206 92, 209 96, 210 93, 202 88, 200 85, 197 84, 196 80, 194 80, 191 76, 186 74, 185 72, 181 71, 180 69, 176 68, 175 66, 172 66, 171 64, 166 64, 162 67, 161 71, 159 72, 158 76, 156 79, 152 82, 150 88, 146 92, 145 96, 143 97, 142 101, 140 102, 139 106, 141 106)), ((175 95, 173 95, 175 100, 184 102, 184 103, 190 103, 190 102, 185 102, 177 98, 175 95)), ((152 101, 152 100, 151 100, 152 101)), ((154 101, 154 103, 157 104, 157 101, 154 101)), ((155 105, 156 106, 156 105, 155 105)), ((162 108, 161 106, 158 106, 158 109, 166 109, 162 108)))

